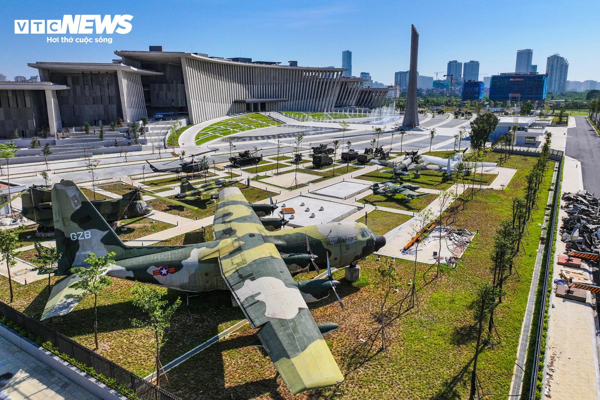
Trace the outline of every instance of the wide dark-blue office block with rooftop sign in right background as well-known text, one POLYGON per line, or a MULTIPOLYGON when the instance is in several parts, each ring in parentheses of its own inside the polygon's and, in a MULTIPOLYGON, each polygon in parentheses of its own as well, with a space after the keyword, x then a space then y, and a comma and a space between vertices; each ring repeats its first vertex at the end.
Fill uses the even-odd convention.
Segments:
POLYGON ((530 73, 503 73, 494 75, 490 81, 490 100, 493 101, 539 101, 546 98, 548 76, 530 73))

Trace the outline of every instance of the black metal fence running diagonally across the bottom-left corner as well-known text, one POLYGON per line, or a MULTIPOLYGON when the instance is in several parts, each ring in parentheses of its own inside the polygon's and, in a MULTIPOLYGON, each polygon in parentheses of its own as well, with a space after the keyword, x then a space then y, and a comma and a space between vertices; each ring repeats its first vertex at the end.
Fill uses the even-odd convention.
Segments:
POLYGON ((123 385, 127 389, 133 390, 137 393, 139 399, 181 400, 166 390, 145 381, 142 377, 137 376, 122 366, 100 356, 100 354, 89 350, 89 348, 77 343, 73 339, 67 338, 62 333, 2 302, 0 302, 0 316, 7 317, 8 320, 13 321, 21 329, 27 330, 34 336, 40 336, 42 342, 51 342, 53 347, 58 347, 58 351, 67 354, 69 357, 76 359, 88 367, 94 368, 97 374, 103 374, 106 378, 114 378, 117 387, 123 385))

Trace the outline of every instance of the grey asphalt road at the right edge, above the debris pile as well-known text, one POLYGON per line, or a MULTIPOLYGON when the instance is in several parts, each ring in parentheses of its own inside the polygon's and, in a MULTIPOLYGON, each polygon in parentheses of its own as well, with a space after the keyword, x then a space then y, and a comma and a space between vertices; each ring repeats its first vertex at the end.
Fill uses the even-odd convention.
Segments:
POLYGON ((583 188, 600 196, 600 138, 586 117, 572 118, 577 127, 567 131, 566 155, 581 161, 583 188))

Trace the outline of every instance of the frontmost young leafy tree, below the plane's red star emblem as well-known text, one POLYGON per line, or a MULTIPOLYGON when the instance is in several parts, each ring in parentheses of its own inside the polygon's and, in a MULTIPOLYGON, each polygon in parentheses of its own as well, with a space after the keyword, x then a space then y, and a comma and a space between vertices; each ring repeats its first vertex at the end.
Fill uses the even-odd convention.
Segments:
POLYGON ((157 386, 160 386, 160 369, 162 367, 160 350, 167 341, 164 338, 164 332, 171 326, 171 318, 181 305, 181 298, 177 297, 172 305, 167 306, 167 300, 161 300, 162 296, 157 288, 140 282, 136 282, 131 288, 131 293, 135 296, 133 304, 147 314, 144 320, 132 318, 131 324, 137 327, 151 327, 154 333, 156 383, 157 386))

